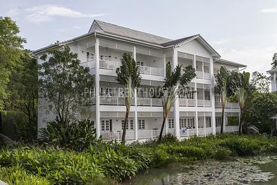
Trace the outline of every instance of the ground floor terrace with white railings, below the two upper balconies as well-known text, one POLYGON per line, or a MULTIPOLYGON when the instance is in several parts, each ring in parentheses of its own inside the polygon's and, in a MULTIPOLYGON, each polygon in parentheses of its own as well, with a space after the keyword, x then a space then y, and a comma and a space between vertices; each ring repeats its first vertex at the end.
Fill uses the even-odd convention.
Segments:
MULTIPOLYGON (((163 135, 171 133, 179 139, 186 139, 189 136, 206 136, 220 132, 221 113, 212 117, 212 112, 179 112, 179 121, 175 120, 173 112, 170 112, 163 128, 163 135), (215 120, 215 121, 213 121, 215 120)), ((238 115, 229 114, 229 120, 224 126, 224 132, 238 132, 238 115), (232 117, 232 118, 229 118, 232 117), (232 122, 231 122, 231 121, 232 122), (233 121, 234 120, 234 121, 233 121)), ((100 112, 100 135, 105 140, 121 140, 125 112, 100 112)), ((127 121, 126 140, 145 141, 156 139, 161 132, 163 122, 162 112, 130 112, 127 121)))

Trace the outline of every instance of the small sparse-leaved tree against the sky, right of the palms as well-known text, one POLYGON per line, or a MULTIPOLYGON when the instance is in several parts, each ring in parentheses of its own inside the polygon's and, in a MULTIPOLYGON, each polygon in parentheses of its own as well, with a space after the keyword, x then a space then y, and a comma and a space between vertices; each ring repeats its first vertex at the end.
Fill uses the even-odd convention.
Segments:
POLYGON ((263 73, 255 71, 252 73, 251 85, 260 93, 269 92, 270 80, 263 73))

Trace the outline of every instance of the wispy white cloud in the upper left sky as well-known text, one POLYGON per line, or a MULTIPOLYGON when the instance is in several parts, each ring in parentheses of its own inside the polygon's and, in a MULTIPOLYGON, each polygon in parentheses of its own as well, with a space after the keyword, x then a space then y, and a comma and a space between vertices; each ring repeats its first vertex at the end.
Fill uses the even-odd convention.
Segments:
POLYGON ((52 21, 53 17, 100 17, 105 14, 86 14, 60 5, 33 6, 27 8, 27 19, 36 23, 52 21))

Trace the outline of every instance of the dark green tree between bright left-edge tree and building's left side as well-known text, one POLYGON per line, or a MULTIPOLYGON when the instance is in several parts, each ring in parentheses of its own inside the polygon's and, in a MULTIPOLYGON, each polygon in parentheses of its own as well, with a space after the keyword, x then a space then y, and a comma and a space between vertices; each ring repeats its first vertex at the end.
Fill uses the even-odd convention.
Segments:
POLYGON ((24 51, 20 61, 21 65, 15 67, 10 75, 10 97, 6 100, 5 107, 6 110, 26 114, 28 124, 16 125, 17 134, 22 139, 31 141, 37 134, 38 65, 37 60, 30 56, 30 51, 24 51))

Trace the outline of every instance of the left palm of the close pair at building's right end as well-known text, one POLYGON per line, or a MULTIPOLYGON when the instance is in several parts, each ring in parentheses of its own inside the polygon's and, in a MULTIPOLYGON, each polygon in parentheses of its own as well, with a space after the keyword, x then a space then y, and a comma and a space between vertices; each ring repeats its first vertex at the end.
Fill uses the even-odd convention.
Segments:
POLYGON ((215 94, 220 95, 222 106, 220 133, 223 133, 225 105, 227 103, 227 99, 233 94, 231 89, 231 72, 228 71, 226 67, 220 67, 220 71, 215 75, 215 82, 215 94))

